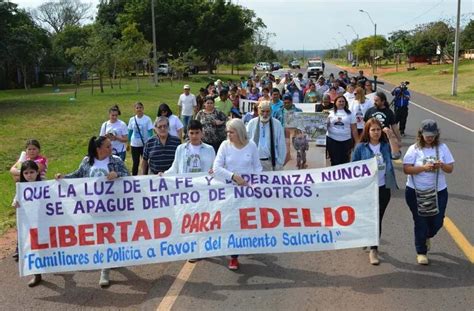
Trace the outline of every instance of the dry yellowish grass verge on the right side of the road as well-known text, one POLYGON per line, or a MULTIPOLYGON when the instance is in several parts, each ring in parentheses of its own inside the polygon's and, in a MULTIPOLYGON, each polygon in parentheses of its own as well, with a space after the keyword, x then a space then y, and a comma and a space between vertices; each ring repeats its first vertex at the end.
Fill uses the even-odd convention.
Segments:
POLYGON ((474 61, 460 62, 458 95, 451 96, 453 65, 427 65, 413 71, 391 72, 382 75, 390 83, 410 81, 410 89, 439 98, 467 109, 474 109, 474 61))

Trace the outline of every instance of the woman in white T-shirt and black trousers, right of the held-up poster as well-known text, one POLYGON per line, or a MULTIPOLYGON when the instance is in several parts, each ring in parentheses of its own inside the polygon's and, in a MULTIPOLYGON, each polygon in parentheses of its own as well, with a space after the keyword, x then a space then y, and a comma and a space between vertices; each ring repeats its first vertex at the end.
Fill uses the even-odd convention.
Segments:
POLYGON ((349 103, 343 95, 336 97, 334 110, 329 113, 326 132, 326 152, 331 166, 348 163, 353 141, 357 144, 355 114, 349 110, 349 103))

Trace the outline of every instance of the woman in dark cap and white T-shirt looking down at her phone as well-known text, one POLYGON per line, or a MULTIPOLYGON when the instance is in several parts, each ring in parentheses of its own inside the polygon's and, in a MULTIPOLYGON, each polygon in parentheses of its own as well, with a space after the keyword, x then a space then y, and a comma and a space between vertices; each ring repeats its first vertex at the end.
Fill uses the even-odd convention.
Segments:
POLYGON ((429 263, 427 252, 430 239, 443 227, 448 203, 448 188, 445 174, 454 169, 454 158, 448 146, 440 143, 438 124, 424 120, 418 130, 417 142, 411 145, 403 158, 403 172, 408 175, 405 200, 415 222, 416 260, 420 265, 429 263), (435 189, 437 209, 427 213, 419 209, 417 191, 435 189))

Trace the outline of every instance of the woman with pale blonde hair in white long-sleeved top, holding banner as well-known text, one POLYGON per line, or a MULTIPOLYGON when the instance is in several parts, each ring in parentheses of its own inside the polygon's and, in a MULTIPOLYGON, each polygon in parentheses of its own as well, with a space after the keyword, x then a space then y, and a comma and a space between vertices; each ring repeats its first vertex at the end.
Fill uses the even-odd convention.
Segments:
MULTIPOLYGON (((217 178, 232 180, 239 186, 247 185, 242 174, 260 173, 262 165, 258 155, 257 145, 247 137, 244 122, 232 119, 227 122, 227 140, 217 151, 213 170, 217 178)), ((239 268, 238 255, 232 255, 229 269, 239 268)))

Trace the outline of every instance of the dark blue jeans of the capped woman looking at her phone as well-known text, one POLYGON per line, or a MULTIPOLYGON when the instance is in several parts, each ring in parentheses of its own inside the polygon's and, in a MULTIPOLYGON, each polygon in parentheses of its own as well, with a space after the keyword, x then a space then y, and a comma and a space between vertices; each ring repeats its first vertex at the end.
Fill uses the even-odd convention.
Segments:
POLYGON ((415 189, 406 187, 405 200, 413 215, 415 223, 415 248, 417 254, 426 255, 426 239, 430 239, 438 233, 439 229, 443 227, 444 214, 446 212, 446 205, 448 204, 448 189, 438 191, 438 208, 439 214, 429 217, 418 215, 418 208, 416 206, 415 189))

